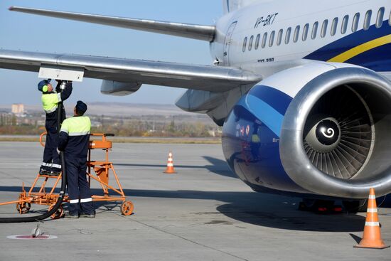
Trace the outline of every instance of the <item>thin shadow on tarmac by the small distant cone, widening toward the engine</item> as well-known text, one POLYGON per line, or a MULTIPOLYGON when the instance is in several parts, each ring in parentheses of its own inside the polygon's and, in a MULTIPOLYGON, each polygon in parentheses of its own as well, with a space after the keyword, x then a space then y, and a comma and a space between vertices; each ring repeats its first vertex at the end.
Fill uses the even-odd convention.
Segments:
MULTIPOLYGON (((230 178, 238 179, 237 176, 230 170, 226 161, 221 159, 213 158, 211 156, 203 156, 204 159, 210 162, 210 165, 178 165, 175 164, 175 169, 208 169, 211 173, 218 174, 220 176, 227 176, 230 178)), ((139 167, 156 167, 160 169, 166 168, 166 165, 160 164, 125 164, 125 163, 114 163, 114 166, 139 166, 139 167)))

